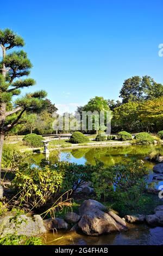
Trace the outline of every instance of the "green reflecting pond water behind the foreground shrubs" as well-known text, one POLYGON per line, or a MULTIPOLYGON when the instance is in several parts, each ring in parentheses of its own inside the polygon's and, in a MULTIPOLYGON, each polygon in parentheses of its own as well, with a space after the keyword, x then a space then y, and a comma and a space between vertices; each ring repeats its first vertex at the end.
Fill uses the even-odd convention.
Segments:
MULTIPOLYGON (((104 147, 104 148, 80 148, 66 149, 64 151, 51 151, 49 160, 53 163, 57 160, 69 161, 77 164, 96 164, 96 159, 102 161, 105 166, 124 163, 126 160, 141 159, 144 160, 154 149, 160 149, 163 155, 163 145, 134 145, 126 147, 104 147)), ((45 158, 43 154, 34 156, 36 163, 40 164, 45 158)), ((163 181, 153 182, 153 166, 155 163, 145 161, 148 168, 148 183, 153 187, 158 188, 163 185, 163 181)))

